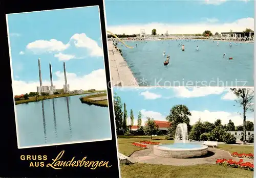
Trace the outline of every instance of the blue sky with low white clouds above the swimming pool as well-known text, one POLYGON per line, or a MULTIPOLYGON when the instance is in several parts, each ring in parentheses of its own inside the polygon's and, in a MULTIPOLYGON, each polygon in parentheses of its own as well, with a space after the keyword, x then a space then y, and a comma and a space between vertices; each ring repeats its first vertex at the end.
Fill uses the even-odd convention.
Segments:
POLYGON ((108 30, 116 34, 196 34, 254 29, 252 0, 105 0, 108 30))

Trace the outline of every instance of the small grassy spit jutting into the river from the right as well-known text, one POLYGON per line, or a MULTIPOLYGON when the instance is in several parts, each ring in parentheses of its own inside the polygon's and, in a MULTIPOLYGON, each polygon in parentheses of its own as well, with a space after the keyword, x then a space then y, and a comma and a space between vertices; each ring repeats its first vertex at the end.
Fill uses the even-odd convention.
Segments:
POLYGON ((95 106, 101 106, 101 107, 109 106, 106 93, 100 93, 100 94, 94 94, 94 95, 90 95, 90 96, 80 97, 80 100, 82 103, 85 103, 88 105, 95 105, 95 106))

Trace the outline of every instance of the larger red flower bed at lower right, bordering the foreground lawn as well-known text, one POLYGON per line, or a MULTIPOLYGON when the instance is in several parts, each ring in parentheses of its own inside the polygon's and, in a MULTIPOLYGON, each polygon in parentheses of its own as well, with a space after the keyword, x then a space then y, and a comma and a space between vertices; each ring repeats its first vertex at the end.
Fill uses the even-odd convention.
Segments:
POLYGON ((241 168, 241 169, 246 169, 253 171, 254 170, 254 165, 250 162, 243 162, 242 159, 240 161, 236 162, 233 160, 226 160, 226 159, 218 159, 216 160, 216 164, 218 165, 223 165, 223 166, 230 166, 233 168, 241 168))

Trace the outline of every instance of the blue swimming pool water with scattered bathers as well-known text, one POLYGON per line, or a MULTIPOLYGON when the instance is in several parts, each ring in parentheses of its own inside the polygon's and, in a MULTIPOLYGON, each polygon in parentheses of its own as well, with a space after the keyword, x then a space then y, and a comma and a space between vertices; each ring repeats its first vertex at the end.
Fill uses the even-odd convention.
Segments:
POLYGON ((220 41, 217 46, 217 41, 203 40, 128 41, 126 44, 137 44, 133 49, 121 43, 118 47, 140 86, 243 86, 245 81, 246 86, 254 84, 253 44, 236 46, 232 42, 229 47, 226 41, 220 41), (185 44, 184 52, 179 46, 181 42, 185 44), (170 55, 168 66, 163 66, 163 51, 170 55), (233 60, 228 60, 229 57, 233 60))

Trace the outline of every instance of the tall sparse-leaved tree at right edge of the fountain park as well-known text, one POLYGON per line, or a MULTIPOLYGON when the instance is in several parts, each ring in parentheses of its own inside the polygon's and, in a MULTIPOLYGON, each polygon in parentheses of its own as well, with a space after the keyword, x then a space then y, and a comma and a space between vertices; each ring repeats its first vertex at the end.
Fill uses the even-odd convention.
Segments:
POLYGON ((251 88, 231 88, 230 90, 237 96, 236 101, 243 108, 243 142, 246 144, 246 112, 253 112, 254 91, 251 88))

